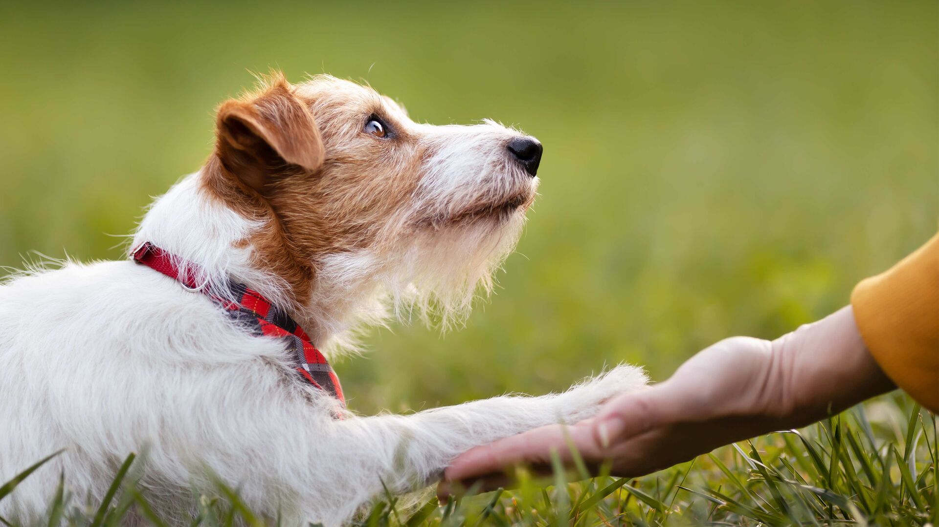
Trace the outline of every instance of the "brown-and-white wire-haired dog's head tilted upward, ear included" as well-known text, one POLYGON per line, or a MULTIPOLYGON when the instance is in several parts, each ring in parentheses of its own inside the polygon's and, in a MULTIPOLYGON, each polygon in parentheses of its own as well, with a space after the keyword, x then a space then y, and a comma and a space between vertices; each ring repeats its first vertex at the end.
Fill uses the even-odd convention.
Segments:
POLYGON ((468 307, 515 246, 542 153, 491 121, 415 123, 392 99, 330 76, 273 75, 223 103, 216 134, 206 184, 267 220, 247 243, 300 305, 378 279, 395 296, 468 307))

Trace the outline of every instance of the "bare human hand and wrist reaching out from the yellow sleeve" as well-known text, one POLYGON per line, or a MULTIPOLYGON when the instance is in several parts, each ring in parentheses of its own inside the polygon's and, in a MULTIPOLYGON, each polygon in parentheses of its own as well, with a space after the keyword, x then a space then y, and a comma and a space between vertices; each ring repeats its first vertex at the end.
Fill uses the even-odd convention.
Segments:
POLYGON ((850 307, 770 341, 734 337, 691 357, 668 381, 611 399, 593 419, 552 425, 479 446, 454 459, 454 482, 504 483, 503 469, 545 470, 569 444, 594 471, 634 476, 777 430, 807 425, 893 387, 870 357, 850 307))

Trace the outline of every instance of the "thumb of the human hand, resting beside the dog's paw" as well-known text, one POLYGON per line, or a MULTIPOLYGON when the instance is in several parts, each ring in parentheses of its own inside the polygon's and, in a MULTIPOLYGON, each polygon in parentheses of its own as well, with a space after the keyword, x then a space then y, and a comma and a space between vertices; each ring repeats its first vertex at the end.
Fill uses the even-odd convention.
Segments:
POLYGON ((593 439, 607 449, 672 421, 684 403, 668 381, 610 399, 593 419, 593 439))

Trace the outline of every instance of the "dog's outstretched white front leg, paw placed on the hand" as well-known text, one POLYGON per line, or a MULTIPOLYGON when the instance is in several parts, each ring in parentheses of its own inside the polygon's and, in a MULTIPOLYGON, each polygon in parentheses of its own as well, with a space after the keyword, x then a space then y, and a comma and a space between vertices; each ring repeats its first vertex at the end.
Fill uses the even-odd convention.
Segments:
POLYGON ((320 439, 323 459, 335 459, 342 471, 331 491, 337 504, 346 504, 343 515, 351 515, 386 488, 400 493, 432 482, 473 446, 591 417, 603 401, 645 383, 640 369, 621 366, 557 395, 504 396, 418 414, 335 421, 328 439, 320 439))

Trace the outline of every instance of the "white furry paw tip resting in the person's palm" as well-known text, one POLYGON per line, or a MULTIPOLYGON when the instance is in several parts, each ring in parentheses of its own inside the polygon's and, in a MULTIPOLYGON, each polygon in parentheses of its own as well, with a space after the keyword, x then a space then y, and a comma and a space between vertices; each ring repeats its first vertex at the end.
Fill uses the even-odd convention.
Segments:
POLYGON ((576 423, 593 417, 608 399, 648 383, 649 378, 641 368, 622 364, 586 379, 558 396, 559 417, 565 423, 576 423))

